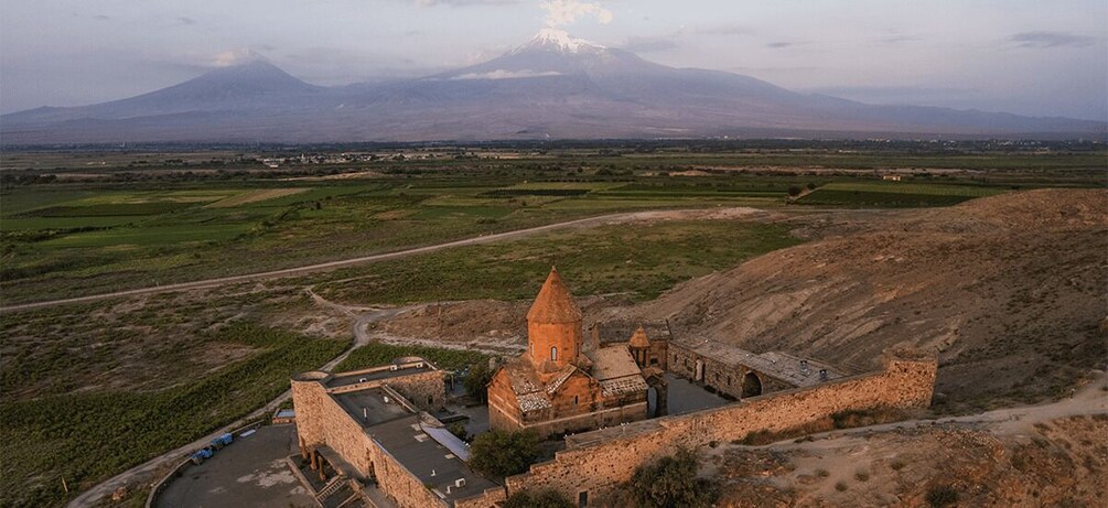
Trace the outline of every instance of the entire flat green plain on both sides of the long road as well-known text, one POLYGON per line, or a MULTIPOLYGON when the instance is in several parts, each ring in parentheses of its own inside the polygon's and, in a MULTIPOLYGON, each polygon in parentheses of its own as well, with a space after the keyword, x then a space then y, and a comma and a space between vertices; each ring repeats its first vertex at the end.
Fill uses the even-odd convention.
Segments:
MULTIPOLYGON (((350 344, 351 318, 307 290, 366 309, 474 299, 514 304, 533 297, 557 265, 579 298, 640 303, 812 241, 841 227, 837 217, 1106 185, 1098 146, 842 148, 399 147, 346 163, 286 154, 293 162, 277 169, 260 163, 280 155, 271 153, 4 154, 3 305, 615 212, 756 210, 724 218, 660 214, 312 276, 6 312, 0 427, 12 438, 0 444, 9 457, 0 466, 3 504, 60 505, 235 421, 280 394, 290 373, 337 356, 350 344), (904 178, 882 180, 888 174, 904 178), (53 452, 43 454, 48 447, 53 452)), ((393 353, 382 348, 356 350, 345 365, 393 353)), ((451 369, 483 359, 420 352, 451 369)), ((143 497, 140 488, 125 502, 143 497)))

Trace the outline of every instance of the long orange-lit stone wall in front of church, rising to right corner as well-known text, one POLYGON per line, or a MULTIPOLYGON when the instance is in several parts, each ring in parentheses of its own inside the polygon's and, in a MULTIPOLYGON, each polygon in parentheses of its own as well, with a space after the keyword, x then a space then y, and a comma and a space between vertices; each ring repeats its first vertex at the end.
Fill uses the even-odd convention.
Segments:
POLYGON ((732 442, 759 431, 787 431, 849 409, 927 407, 935 367, 933 359, 886 356, 882 372, 578 434, 566 439, 567 449, 558 452, 554 460, 509 477, 505 494, 554 489, 576 500, 586 493, 589 506, 605 506, 605 498, 618 484, 629 480, 636 467, 671 455, 678 447, 732 442))

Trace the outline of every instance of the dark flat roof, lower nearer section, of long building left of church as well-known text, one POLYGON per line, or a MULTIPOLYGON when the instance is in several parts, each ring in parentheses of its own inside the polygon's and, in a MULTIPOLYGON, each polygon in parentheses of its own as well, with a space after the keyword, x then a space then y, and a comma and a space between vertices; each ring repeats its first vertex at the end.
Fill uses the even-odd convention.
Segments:
POLYGON ((397 462, 451 505, 456 499, 475 496, 496 486, 423 432, 418 415, 381 423, 367 432, 397 462), (458 479, 463 479, 464 486, 455 487, 458 479))

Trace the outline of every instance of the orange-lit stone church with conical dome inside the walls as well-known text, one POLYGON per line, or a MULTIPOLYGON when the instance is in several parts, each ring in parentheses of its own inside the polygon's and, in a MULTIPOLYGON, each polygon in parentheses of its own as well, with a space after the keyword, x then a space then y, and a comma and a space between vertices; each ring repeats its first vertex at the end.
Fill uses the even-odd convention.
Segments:
POLYGON ((489 419, 543 437, 619 425, 647 417, 648 388, 627 342, 584 341, 581 309, 551 269, 527 312, 527 351, 489 384, 489 419))

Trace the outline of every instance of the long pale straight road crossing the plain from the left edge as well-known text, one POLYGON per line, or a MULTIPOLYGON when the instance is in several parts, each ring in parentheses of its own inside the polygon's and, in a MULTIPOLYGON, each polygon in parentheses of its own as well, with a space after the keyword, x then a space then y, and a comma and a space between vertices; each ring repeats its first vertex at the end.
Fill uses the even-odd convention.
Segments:
POLYGON ((597 225, 612 224, 612 222, 623 222, 623 221, 627 221, 627 220, 634 220, 634 219, 639 218, 639 217, 648 217, 647 214, 650 214, 650 212, 634 211, 634 212, 625 212, 625 214, 602 215, 602 216, 598 216, 598 217, 589 217, 589 218, 585 218, 585 219, 568 220, 568 221, 565 221, 565 222, 548 224, 546 226, 536 226, 536 227, 533 227, 533 228, 517 229, 517 230, 514 230, 514 231, 505 231, 505 232, 497 232, 497 234, 492 234, 492 235, 483 235, 483 236, 479 236, 479 237, 465 238, 465 239, 462 239, 462 240, 448 241, 445 243, 438 243, 438 245, 427 246, 427 247, 418 247, 418 248, 414 248, 414 249, 400 250, 400 251, 396 251, 396 252, 386 252, 386 253, 379 253, 379 255, 373 255, 373 256, 363 256, 363 257, 360 257, 360 258, 342 259, 342 260, 339 260, 339 261, 330 261, 330 262, 324 262, 324 263, 319 263, 319 265, 309 265, 309 266, 297 267, 297 268, 286 268, 284 270, 263 271, 263 272, 257 272, 257 273, 246 273, 246 274, 233 276, 233 277, 220 277, 220 278, 217 278, 217 279, 197 280, 197 281, 193 281, 193 282, 181 282, 181 283, 176 283, 176 284, 156 286, 156 287, 152 287, 152 288, 129 289, 129 290, 125 290, 125 291, 115 291, 115 292, 103 293, 103 294, 91 294, 91 296, 88 296, 88 297, 66 298, 66 299, 62 299, 62 300, 50 300, 50 301, 32 302, 32 303, 19 303, 19 304, 14 304, 14 305, 0 307, 0 313, 12 312, 12 311, 20 311, 20 310, 29 310, 29 309, 41 309, 41 308, 45 308, 45 307, 54 307, 54 305, 61 305, 61 304, 66 304, 66 303, 85 303, 85 302, 92 302, 92 301, 98 301, 98 300, 106 300, 106 299, 110 299, 110 298, 119 298, 119 297, 135 297, 135 296, 142 296, 142 294, 155 294, 155 293, 164 293, 164 292, 173 292, 173 291, 187 291, 187 290, 194 290, 194 289, 208 289, 208 288, 216 288, 216 287, 219 287, 219 286, 238 283, 238 282, 250 282, 250 281, 256 281, 256 280, 276 279, 276 278, 283 278, 283 277, 297 277, 297 276, 304 276, 304 274, 314 273, 314 272, 318 272, 318 271, 335 270, 335 269, 339 269, 339 268, 347 268, 347 267, 353 267, 353 266, 358 266, 358 265, 366 265, 366 263, 378 262, 378 261, 387 261, 387 260, 390 260, 390 259, 398 259, 398 258, 404 258, 404 257, 408 257, 408 256, 416 256, 416 255, 421 255, 421 253, 427 253, 427 252, 433 252, 433 251, 437 251, 437 250, 449 249, 449 248, 452 248, 452 247, 472 246, 472 245, 489 243, 489 242, 493 242, 493 241, 500 241, 500 240, 506 240, 506 239, 513 239, 513 238, 521 238, 521 237, 525 237, 525 236, 530 236, 530 235, 534 235, 534 234, 538 234, 538 232, 551 231, 551 230, 555 230, 555 229, 564 229, 564 228, 571 228, 571 227, 579 227, 579 226, 597 226, 597 225))

